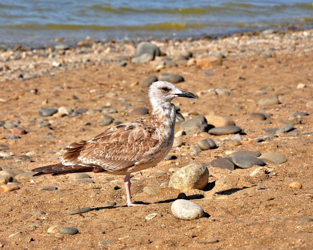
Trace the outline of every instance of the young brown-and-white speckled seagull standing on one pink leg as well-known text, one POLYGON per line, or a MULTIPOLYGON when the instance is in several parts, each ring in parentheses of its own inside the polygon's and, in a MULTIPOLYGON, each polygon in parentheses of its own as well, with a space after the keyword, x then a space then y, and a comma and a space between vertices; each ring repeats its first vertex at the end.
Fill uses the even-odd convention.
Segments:
POLYGON ((33 176, 69 173, 105 172, 126 175, 124 184, 127 206, 131 202, 132 172, 151 168, 164 159, 172 148, 176 121, 175 97, 196 98, 166 81, 149 86, 151 112, 135 121, 122 123, 98 134, 89 141, 71 143, 62 149, 61 162, 32 169, 33 176))

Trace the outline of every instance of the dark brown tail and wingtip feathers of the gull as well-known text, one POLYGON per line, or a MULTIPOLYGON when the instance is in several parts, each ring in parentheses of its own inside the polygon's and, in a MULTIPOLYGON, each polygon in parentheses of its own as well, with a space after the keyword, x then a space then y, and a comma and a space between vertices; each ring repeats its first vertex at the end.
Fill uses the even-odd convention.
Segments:
POLYGON ((62 163, 52 164, 44 167, 32 169, 33 172, 38 172, 33 176, 52 174, 53 176, 70 173, 85 173, 92 172, 94 167, 85 167, 81 165, 65 166, 62 163))

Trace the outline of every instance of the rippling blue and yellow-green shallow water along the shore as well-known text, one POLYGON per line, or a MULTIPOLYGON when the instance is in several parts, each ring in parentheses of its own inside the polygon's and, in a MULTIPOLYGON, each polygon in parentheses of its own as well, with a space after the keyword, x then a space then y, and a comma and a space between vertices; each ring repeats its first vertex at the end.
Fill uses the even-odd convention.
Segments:
POLYGON ((274 1, 0 1, 0 47, 42 46, 64 37, 99 39, 201 37, 290 23, 310 26, 313 3, 274 1))

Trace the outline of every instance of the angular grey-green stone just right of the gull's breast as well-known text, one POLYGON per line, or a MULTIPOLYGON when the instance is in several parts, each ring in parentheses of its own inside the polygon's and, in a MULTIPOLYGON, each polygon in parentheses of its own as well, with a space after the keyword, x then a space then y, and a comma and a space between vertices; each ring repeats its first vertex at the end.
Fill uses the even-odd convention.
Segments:
POLYGON ((190 120, 182 122, 180 124, 180 129, 183 130, 187 135, 192 135, 193 133, 201 133, 208 131, 208 123, 204 116, 197 115, 190 120))

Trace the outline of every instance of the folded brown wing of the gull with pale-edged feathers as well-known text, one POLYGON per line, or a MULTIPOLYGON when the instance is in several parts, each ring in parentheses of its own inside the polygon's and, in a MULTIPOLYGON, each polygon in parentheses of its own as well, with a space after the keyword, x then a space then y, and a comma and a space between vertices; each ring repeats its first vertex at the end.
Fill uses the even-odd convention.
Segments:
POLYGON ((90 166, 108 171, 127 169, 155 147, 155 128, 140 122, 129 122, 109 128, 90 141, 72 143, 66 148, 62 164, 90 166))

